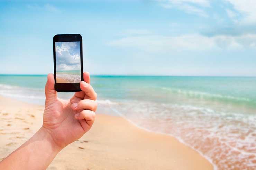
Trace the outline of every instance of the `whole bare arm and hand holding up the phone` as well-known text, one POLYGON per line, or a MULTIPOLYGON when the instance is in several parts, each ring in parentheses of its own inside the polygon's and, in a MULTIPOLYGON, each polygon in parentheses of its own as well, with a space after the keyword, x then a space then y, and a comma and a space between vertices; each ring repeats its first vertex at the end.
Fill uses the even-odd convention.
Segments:
POLYGON ((48 74, 43 126, 1 161, 0 169, 46 169, 61 149, 90 130, 97 109, 97 94, 89 84, 89 73, 85 72, 83 77, 82 91, 70 100, 62 100, 54 89, 53 74, 48 74))

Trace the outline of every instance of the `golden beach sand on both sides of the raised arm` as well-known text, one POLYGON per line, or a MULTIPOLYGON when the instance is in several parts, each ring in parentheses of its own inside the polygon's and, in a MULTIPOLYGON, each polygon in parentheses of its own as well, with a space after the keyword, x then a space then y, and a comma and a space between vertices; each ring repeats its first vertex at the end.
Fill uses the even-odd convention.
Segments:
MULTIPOLYGON (((42 125, 44 106, 0 97, 0 160, 42 125)), ((199 153, 174 137, 137 128, 117 116, 98 114, 92 129, 64 148, 49 170, 212 170, 199 153)))

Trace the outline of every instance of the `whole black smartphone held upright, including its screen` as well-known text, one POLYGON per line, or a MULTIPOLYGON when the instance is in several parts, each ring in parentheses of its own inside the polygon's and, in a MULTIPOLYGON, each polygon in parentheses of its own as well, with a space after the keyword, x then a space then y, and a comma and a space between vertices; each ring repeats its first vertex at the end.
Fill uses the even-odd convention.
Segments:
POLYGON ((80 34, 62 34, 53 37, 55 90, 81 91, 83 81, 83 49, 80 34))

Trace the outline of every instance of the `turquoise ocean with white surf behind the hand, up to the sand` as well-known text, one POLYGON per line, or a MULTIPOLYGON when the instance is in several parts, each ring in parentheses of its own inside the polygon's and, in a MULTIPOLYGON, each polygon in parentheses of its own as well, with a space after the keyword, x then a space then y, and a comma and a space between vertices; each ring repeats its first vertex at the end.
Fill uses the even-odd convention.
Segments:
MULTIPOLYGON (((44 104, 46 80, 0 75, 0 95, 44 104)), ((174 136, 215 169, 256 169, 256 77, 91 76, 91 84, 98 113, 174 136)))

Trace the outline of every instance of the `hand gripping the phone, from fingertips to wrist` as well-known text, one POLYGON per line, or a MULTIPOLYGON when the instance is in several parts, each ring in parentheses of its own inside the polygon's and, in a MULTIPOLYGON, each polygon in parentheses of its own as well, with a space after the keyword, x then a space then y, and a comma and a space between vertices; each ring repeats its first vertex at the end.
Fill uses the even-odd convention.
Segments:
POLYGON ((76 92, 70 100, 63 100, 57 97, 53 74, 48 74, 43 126, 40 130, 48 133, 59 149, 82 137, 94 122, 97 94, 90 85, 88 72, 84 72, 83 78, 84 81, 80 83, 82 91, 76 92))

